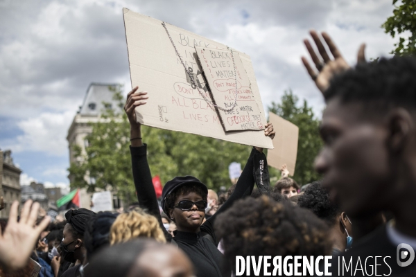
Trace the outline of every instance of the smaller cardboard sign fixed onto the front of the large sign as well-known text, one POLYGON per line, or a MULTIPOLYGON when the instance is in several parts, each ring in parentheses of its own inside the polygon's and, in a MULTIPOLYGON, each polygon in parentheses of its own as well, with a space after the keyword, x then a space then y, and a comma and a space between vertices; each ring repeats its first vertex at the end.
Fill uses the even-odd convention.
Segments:
POLYGON ((265 119, 254 98, 239 53, 195 48, 225 131, 264 129, 262 122, 265 119))

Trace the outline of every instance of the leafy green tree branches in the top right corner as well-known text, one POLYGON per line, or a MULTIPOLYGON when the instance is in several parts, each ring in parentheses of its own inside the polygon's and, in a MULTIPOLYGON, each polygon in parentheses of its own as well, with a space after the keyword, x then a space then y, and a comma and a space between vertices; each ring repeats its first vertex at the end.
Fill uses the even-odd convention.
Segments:
MULTIPOLYGON (((393 5, 397 0, 393 0, 393 5)), ((391 53, 395 55, 415 55, 416 54, 416 1, 401 0, 401 5, 396 6, 393 15, 381 26, 385 33, 392 37, 403 34, 399 37, 399 42, 395 44, 395 50, 391 53)))

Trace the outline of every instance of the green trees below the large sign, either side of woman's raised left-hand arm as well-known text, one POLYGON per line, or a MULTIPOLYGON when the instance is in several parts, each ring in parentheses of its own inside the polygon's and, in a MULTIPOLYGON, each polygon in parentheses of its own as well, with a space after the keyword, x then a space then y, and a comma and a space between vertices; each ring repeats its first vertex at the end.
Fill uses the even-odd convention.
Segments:
MULTIPOLYGON (((121 87, 114 89, 119 110, 105 109, 102 120, 92 124, 92 133, 86 139, 86 153, 76 145, 77 162, 68 171, 71 187, 113 188, 126 202, 135 200, 135 186, 130 161, 130 125, 123 112, 121 87), (86 176, 88 176, 86 178, 86 176)), ((162 184, 175 176, 193 175, 209 188, 230 186, 228 166, 233 161, 242 166, 251 148, 195 134, 173 132, 142 126, 144 143, 148 144, 148 163, 153 175, 159 175, 162 184)))

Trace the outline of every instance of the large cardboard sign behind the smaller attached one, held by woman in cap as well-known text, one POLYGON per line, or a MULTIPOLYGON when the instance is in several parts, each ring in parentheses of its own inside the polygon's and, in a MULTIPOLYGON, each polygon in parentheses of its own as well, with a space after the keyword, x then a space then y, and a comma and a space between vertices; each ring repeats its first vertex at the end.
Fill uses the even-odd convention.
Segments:
MULTIPOLYGON (((273 147, 271 139, 264 136, 263 132, 225 132, 216 110, 205 100, 207 98, 212 101, 207 86, 198 76, 201 72, 195 46, 223 50, 227 49, 227 46, 166 24, 174 47, 162 26, 162 21, 140 15, 127 8, 123 9, 123 15, 132 87, 139 86, 139 91, 148 91, 149 96, 147 104, 137 107, 135 111, 139 123, 261 148, 273 147), (196 78, 202 95, 196 85, 191 84, 175 48, 187 70, 196 78)), ((263 118, 261 124, 266 125, 250 57, 238 51, 234 52, 240 55, 263 118)))

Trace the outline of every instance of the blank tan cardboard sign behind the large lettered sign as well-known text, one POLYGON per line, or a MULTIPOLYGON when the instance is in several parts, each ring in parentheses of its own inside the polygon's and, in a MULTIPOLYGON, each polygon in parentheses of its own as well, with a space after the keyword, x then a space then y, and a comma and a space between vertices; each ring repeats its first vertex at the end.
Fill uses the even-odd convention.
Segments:
POLYGON ((268 165, 280 169, 286 163, 290 175, 294 175, 299 128, 272 112, 269 112, 269 122, 273 124, 276 136, 273 140, 275 149, 268 150, 267 152, 268 165))

